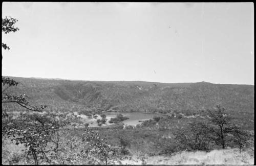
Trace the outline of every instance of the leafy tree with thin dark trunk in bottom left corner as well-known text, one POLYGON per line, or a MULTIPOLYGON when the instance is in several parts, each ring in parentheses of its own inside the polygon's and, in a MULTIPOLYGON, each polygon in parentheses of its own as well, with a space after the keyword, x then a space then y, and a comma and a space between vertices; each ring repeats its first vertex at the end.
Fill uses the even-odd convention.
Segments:
POLYGON ((3 135, 15 141, 16 145, 24 144, 28 148, 28 155, 33 156, 35 164, 38 164, 38 155, 40 154, 47 159, 47 162, 50 162, 46 156, 45 148, 47 143, 51 141, 53 134, 61 127, 55 115, 25 113, 15 119, 12 117, 5 118, 3 124, 3 135))

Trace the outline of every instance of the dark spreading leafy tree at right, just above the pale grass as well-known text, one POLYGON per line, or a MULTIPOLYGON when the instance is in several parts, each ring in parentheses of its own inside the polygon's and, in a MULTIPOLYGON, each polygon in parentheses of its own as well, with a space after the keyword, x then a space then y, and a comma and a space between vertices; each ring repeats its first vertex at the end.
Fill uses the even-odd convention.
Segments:
POLYGON ((219 145, 225 149, 238 147, 241 149, 246 145, 248 132, 238 125, 232 123, 232 117, 226 114, 225 109, 217 106, 216 110, 208 110, 208 118, 197 119, 189 123, 188 127, 176 131, 175 139, 181 150, 203 150, 216 149, 219 145))

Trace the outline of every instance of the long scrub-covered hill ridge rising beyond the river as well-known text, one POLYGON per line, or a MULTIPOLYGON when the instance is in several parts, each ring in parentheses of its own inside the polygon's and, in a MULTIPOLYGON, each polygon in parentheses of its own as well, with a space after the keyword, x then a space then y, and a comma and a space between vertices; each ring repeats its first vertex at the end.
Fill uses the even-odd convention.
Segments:
POLYGON ((10 78, 19 84, 8 88, 8 93, 25 93, 31 103, 48 105, 49 110, 94 108, 163 113, 212 109, 220 104, 228 111, 254 112, 253 85, 10 78))

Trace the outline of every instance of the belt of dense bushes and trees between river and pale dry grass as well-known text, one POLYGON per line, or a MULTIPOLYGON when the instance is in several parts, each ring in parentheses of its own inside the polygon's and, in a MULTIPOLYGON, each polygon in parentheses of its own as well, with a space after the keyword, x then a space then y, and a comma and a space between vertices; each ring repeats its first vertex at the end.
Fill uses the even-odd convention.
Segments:
MULTIPOLYGON (((25 141, 28 146, 24 148, 26 154, 29 145, 34 145, 32 148, 36 149, 34 153, 37 156, 34 163, 40 164, 119 164, 134 155, 141 162, 145 162, 144 159, 148 156, 169 156, 181 151, 209 152, 215 149, 238 148, 241 153, 254 147, 253 129, 247 130, 241 124, 237 125, 235 118, 222 107, 205 111, 205 114, 206 116, 200 114, 194 118, 182 114, 182 117, 155 116, 135 128, 90 129, 86 126, 73 127, 73 124, 83 125, 78 116, 72 113, 56 115, 25 112, 20 115, 9 114, 3 118, 2 130, 16 144, 36 134, 33 131, 43 131, 41 138, 35 135, 29 142, 25 141), (49 127, 54 127, 54 130, 49 127), (38 144, 39 147, 36 146, 38 144)), ((251 149, 251 153, 253 150, 251 149)), ((16 154, 13 157, 19 160, 10 158, 10 163, 33 163, 32 153, 24 158, 23 155, 24 153, 16 154)))

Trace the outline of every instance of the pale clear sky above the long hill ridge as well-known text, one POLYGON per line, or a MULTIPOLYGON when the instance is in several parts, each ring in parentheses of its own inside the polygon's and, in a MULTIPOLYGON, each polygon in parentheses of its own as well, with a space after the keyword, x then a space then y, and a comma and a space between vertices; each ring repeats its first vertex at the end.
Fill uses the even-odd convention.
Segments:
POLYGON ((253 3, 3 3, 2 75, 254 85, 253 3))

